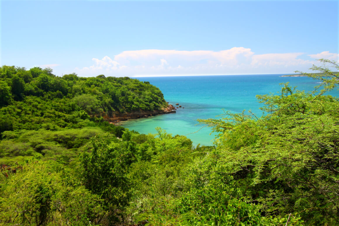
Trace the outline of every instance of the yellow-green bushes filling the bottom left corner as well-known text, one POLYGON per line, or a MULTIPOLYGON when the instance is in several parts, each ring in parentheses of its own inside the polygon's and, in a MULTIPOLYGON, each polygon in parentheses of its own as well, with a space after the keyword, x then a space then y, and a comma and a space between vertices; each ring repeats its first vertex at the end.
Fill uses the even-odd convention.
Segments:
POLYGON ((0 174, 1 225, 98 225, 106 212, 102 200, 75 185, 55 162, 29 162, 0 174))

